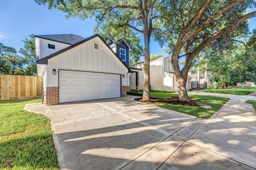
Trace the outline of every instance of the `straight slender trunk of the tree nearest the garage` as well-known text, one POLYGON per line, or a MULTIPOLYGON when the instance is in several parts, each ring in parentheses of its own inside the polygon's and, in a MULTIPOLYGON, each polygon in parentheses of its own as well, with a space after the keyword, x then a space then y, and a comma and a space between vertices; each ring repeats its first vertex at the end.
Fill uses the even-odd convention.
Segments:
POLYGON ((150 37, 144 36, 144 83, 143 83, 143 96, 144 100, 150 99, 150 37))

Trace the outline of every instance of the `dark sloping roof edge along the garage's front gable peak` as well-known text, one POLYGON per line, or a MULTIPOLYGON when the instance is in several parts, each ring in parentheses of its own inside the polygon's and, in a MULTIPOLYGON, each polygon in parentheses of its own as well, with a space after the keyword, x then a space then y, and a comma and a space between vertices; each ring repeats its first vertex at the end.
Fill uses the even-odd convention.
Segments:
POLYGON ((84 43, 84 42, 86 42, 86 41, 92 40, 92 39, 94 39, 95 37, 99 37, 99 38, 101 39, 101 41, 103 41, 104 44, 105 44, 106 46, 108 46, 108 48, 113 52, 113 54, 115 54, 115 57, 117 57, 117 58, 119 59, 119 61, 121 61, 121 62, 123 63, 123 65, 125 65, 125 67, 126 67, 126 68, 128 69, 128 71, 129 71, 129 73, 132 72, 132 71, 129 69, 129 67, 127 67, 127 65, 122 61, 122 59, 117 56, 117 54, 112 50, 112 48, 110 48, 110 46, 106 43, 106 41, 104 41, 104 40, 102 39, 102 37, 101 37, 100 35, 98 35, 98 34, 93 35, 93 36, 91 36, 91 37, 88 37, 87 39, 84 39, 84 40, 82 40, 82 41, 79 41, 79 42, 77 42, 76 44, 73 44, 73 45, 71 45, 71 46, 68 46, 67 48, 61 49, 61 50, 57 51, 56 53, 50 54, 49 56, 43 57, 43 58, 41 58, 41 59, 38 59, 38 61, 36 61, 36 63, 37 63, 37 64, 48 65, 48 59, 50 59, 50 58, 52 58, 52 57, 55 57, 55 56, 57 56, 57 55, 59 55, 59 54, 61 54, 61 53, 64 53, 64 52, 66 52, 67 50, 72 49, 72 48, 74 48, 74 47, 76 47, 76 46, 78 46, 78 45, 80 45, 80 44, 82 44, 82 43, 84 43))

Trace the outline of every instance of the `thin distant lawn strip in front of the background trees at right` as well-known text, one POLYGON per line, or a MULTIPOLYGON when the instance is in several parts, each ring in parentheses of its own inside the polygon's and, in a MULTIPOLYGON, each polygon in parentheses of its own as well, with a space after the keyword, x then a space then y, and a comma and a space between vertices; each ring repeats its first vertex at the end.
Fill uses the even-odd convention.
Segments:
POLYGON ((252 92, 256 91, 256 87, 232 87, 232 88, 226 88, 226 89, 202 89, 200 91, 203 92, 211 92, 211 93, 217 93, 217 94, 229 94, 229 95, 247 95, 252 92))

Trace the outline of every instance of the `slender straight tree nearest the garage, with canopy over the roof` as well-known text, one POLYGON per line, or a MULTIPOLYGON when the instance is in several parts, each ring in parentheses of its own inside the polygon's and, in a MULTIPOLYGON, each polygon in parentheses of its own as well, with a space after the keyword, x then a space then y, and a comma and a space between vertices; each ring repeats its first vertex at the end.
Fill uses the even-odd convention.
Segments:
POLYGON ((156 0, 88 1, 88 0, 35 0, 39 5, 48 5, 67 13, 67 17, 86 19, 94 17, 98 25, 122 31, 133 29, 141 33, 144 41, 143 99, 150 98, 150 38, 155 20, 159 18, 160 5, 156 0))

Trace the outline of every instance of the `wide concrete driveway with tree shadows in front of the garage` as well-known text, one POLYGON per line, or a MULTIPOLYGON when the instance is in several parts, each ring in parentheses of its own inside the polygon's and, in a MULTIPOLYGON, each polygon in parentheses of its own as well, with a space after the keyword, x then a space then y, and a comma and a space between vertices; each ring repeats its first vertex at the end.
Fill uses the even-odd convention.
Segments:
POLYGON ((206 121, 134 98, 48 106, 60 168, 256 168, 254 126, 206 121))

